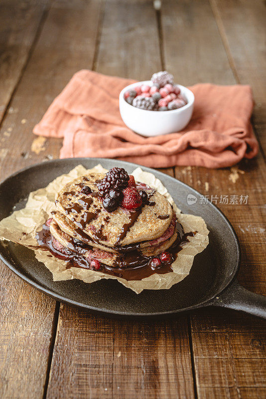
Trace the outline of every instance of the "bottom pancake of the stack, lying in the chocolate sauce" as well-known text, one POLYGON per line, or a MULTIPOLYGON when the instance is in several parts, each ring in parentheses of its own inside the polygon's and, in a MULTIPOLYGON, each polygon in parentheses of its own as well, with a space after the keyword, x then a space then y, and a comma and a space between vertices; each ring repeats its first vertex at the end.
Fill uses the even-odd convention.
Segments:
MULTIPOLYGON (((73 250, 73 252, 76 252, 77 254, 84 256, 85 258, 92 260, 92 259, 97 259, 101 263, 106 264, 108 266, 112 267, 117 267, 118 263, 123 263, 123 265, 120 264, 120 267, 127 267, 127 256, 123 256, 123 261, 122 261, 122 256, 121 254, 118 253, 112 253, 105 251, 103 249, 99 249, 96 247, 92 247, 89 245, 85 245, 81 243, 80 241, 73 240, 73 238, 62 231, 58 224, 52 220, 50 222, 50 232, 52 236, 64 247, 68 248, 70 250, 73 250)), ((142 254, 145 257, 149 256, 156 256, 159 253, 165 251, 168 249, 173 242, 177 238, 177 233, 175 232, 170 238, 165 240, 163 243, 157 244, 157 245, 152 245, 148 246, 146 248, 143 248, 142 250, 138 250, 140 254, 142 254)))

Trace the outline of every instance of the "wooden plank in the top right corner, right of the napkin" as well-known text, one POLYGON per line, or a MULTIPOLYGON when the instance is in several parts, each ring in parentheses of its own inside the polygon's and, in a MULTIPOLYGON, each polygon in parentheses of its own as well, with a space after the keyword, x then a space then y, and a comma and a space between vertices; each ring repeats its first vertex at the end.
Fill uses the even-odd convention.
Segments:
POLYGON ((237 81, 252 86, 256 102, 254 126, 266 151, 265 1, 210 0, 210 3, 237 81))

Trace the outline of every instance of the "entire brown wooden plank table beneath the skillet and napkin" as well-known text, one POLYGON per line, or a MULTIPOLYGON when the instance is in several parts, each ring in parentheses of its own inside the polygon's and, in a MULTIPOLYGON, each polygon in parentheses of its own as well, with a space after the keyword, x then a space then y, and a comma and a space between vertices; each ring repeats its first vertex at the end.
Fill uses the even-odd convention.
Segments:
MULTIPOLYGON (((263 0, 2 0, 0 179, 58 158, 33 126, 79 69, 184 85, 250 84, 260 153, 235 168, 163 170, 220 204, 241 243, 239 281, 265 293, 266 57, 263 0), (264 219, 265 220, 265 219, 264 219)), ((1 398, 266 398, 265 322, 211 308, 157 323, 60 304, 0 264, 1 398)))

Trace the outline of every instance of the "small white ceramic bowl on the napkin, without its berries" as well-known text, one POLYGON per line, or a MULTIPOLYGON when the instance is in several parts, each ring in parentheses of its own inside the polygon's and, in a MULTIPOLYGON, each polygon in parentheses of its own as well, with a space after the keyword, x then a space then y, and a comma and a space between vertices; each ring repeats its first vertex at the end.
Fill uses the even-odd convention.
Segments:
POLYGON ((187 100, 186 105, 172 111, 147 111, 133 107, 124 99, 124 94, 127 90, 142 84, 152 86, 151 80, 145 80, 130 84, 120 92, 119 109, 125 124, 142 136, 158 136, 160 134, 179 132, 184 129, 190 121, 193 112, 194 94, 192 91, 178 84, 181 94, 187 100))

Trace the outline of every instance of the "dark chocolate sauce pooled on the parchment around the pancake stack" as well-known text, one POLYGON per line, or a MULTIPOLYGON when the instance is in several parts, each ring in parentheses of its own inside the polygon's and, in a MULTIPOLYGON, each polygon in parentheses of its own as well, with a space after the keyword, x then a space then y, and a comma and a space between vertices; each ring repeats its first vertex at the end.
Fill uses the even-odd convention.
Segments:
MULTIPOLYGON (((188 242, 187 237, 195 235, 193 232, 184 234, 181 225, 178 226, 178 231, 181 231, 182 234, 178 234, 176 241, 167 249, 167 252, 172 253, 174 260, 177 257, 177 253, 181 251, 183 245, 188 242)), ((66 265, 67 268, 90 268, 90 260, 87 260, 81 255, 91 248, 86 248, 86 245, 83 242, 73 239, 68 247, 64 247, 62 251, 59 251, 54 248, 50 229, 45 224, 43 225, 42 230, 37 233, 36 238, 39 246, 32 248, 47 250, 56 258, 68 261, 66 265)), ((153 270, 150 267, 152 258, 153 256, 143 256, 141 252, 135 249, 124 256, 119 257, 114 265, 116 267, 102 264, 100 271, 116 277, 122 277, 128 281, 141 280, 142 278, 149 277, 155 273, 165 274, 172 272, 171 264, 163 265, 162 267, 153 270)))

